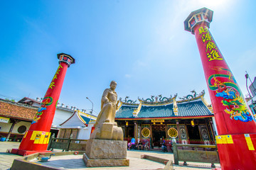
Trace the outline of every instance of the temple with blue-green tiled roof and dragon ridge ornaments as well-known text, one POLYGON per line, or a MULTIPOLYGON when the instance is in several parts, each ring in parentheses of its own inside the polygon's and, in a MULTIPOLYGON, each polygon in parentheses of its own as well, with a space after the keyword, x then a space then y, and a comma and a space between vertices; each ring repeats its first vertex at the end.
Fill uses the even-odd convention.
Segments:
POLYGON ((171 98, 151 96, 144 100, 121 101, 115 120, 124 131, 124 140, 135 137, 149 141, 151 147, 160 147, 161 142, 171 142, 172 137, 179 143, 215 143, 215 120, 213 109, 203 98, 205 92, 188 95, 177 101, 171 98))

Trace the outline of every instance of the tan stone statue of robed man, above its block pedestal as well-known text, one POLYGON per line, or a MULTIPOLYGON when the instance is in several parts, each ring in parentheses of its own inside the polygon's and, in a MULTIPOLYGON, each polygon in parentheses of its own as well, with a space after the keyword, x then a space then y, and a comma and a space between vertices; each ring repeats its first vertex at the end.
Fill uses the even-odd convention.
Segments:
POLYGON ((114 122, 117 112, 117 92, 114 91, 116 87, 117 82, 111 81, 110 89, 105 89, 102 94, 101 111, 97 116, 91 139, 123 140, 122 128, 117 127, 117 123, 114 122))

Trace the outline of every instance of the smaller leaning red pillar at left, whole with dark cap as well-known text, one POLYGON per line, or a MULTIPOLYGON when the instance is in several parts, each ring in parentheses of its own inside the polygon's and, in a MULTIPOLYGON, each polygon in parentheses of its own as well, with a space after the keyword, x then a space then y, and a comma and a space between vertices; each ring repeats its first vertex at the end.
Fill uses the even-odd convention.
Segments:
POLYGON ((36 152, 47 151, 48 141, 50 139, 50 126, 53 123, 58 98, 63 86, 65 73, 70 64, 75 63, 75 59, 70 55, 60 53, 57 55, 59 66, 50 82, 50 86, 46 91, 41 106, 38 108, 36 116, 33 118, 31 127, 26 132, 18 149, 12 149, 11 153, 27 155, 36 152))

